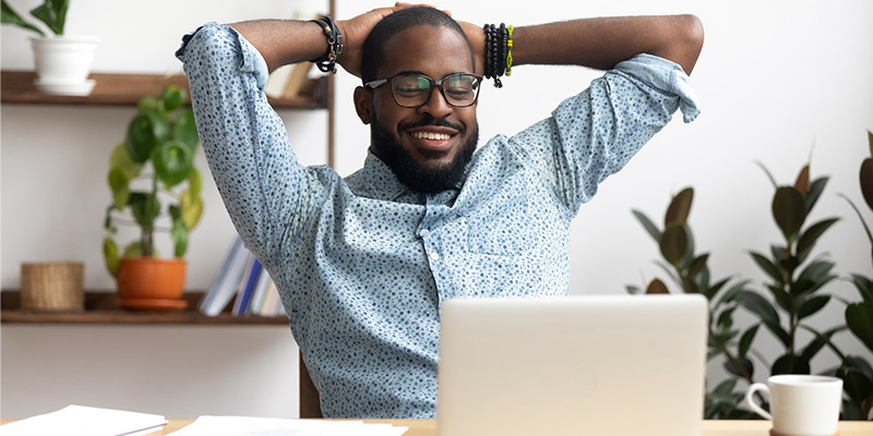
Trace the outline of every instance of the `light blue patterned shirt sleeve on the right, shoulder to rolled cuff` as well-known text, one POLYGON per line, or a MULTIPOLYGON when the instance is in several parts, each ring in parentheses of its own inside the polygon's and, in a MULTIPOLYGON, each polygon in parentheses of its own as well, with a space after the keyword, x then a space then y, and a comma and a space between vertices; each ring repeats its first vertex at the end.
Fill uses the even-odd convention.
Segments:
POLYGON ((670 122, 677 109, 686 123, 699 113, 687 75, 677 63, 638 55, 593 81, 510 143, 529 157, 575 214, 607 177, 670 122))

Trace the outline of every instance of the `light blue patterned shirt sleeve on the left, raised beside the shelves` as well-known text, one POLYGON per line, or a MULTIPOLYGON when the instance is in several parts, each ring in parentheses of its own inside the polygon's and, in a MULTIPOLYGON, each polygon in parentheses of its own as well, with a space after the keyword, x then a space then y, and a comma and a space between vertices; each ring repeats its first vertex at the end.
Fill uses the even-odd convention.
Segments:
POLYGON ((210 23, 182 38, 206 159, 237 231, 262 261, 294 242, 332 183, 300 165, 263 93, 261 53, 232 27, 210 23))

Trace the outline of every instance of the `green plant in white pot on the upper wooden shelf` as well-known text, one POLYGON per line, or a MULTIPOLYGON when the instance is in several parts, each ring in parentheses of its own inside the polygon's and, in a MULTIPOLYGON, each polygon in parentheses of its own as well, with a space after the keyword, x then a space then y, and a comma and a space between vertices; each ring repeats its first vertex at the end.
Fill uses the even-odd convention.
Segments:
POLYGON ((88 80, 98 37, 71 36, 63 32, 70 0, 45 0, 31 11, 38 21, 27 21, 2 0, 0 19, 39 35, 31 39, 36 66, 36 88, 45 94, 88 95, 95 82, 88 80), (40 28, 38 23, 46 27, 40 28))

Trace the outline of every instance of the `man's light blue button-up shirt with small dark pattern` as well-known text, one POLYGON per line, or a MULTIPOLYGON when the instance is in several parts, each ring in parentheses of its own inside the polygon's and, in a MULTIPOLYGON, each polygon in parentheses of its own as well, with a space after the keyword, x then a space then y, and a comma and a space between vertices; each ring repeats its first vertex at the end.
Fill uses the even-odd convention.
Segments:
POLYGON ((641 55, 480 147, 461 190, 424 195, 372 154, 345 179, 300 165, 263 58, 230 27, 187 35, 177 57, 215 182, 276 281, 325 416, 432 417, 441 304, 565 294, 579 205, 677 108, 698 113, 681 68, 641 55))

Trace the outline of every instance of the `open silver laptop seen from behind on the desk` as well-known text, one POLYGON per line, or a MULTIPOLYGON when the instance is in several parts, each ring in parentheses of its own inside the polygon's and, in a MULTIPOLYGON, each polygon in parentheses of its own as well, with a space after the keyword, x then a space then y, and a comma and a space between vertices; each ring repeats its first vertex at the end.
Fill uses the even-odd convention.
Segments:
POLYGON ((456 299, 440 316, 440 436, 701 434, 703 295, 456 299))

